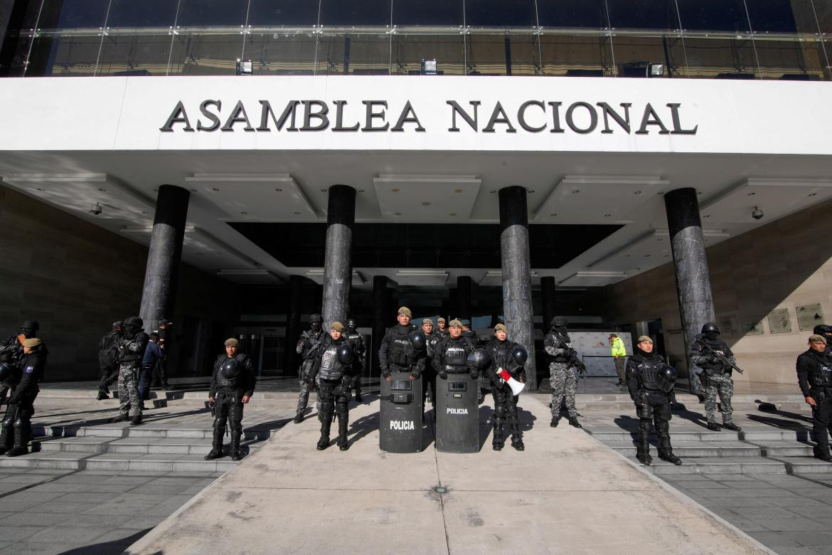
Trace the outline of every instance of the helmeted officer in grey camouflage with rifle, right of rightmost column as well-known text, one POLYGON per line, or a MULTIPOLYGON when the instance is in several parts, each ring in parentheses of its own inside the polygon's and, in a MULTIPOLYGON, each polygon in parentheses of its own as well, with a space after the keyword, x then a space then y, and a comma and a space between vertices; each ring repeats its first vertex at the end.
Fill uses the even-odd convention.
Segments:
POLYGON ((731 414, 734 412, 730 406, 730 398, 734 394, 734 382, 730 379, 731 367, 721 361, 716 354, 721 354, 731 364, 735 364, 736 360, 728 345, 719 337, 720 329, 716 327, 716 324, 708 322, 703 325, 702 333, 696 336, 696 341, 691 348, 691 360, 693 364, 702 369, 699 379, 702 388, 705 389, 705 416, 708 420, 708 429, 720 431, 720 425, 716 424, 716 396, 718 394, 722 412, 722 428, 739 432, 740 427, 731 419, 731 414))

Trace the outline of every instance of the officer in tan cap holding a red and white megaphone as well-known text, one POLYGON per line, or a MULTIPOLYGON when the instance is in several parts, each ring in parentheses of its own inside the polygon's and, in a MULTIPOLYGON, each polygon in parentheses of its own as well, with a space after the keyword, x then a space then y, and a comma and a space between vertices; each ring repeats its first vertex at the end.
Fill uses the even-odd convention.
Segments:
MULTIPOLYGON (((497 374, 499 369, 505 369, 518 382, 526 381, 526 369, 523 364, 518 364, 517 359, 515 359, 514 351, 518 348, 522 349, 519 344, 508 340, 508 328, 505 324, 494 326, 494 338, 488 341, 485 346, 491 358, 491 365, 488 367, 486 375, 491 381, 491 393, 494 398, 494 413, 491 418, 494 427, 492 447, 495 451, 501 450, 505 444, 504 425, 506 420, 508 420, 508 429, 512 434, 512 447, 518 451, 525 448, 522 443, 517 400, 514 398, 512 390, 506 385, 505 380, 497 374)), ((523 354, 525 354, 525 349, 523 349, 523 354)))

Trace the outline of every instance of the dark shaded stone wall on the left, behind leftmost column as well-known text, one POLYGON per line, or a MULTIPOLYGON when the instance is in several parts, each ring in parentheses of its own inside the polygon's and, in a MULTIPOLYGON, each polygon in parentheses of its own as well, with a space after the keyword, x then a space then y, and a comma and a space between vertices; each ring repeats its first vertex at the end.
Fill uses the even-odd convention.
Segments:
MULTIPOLYGON (((145 246, 0 186, 0 337, 38 320, 47 380, 97 377, 98 339, 113 321, 138 314, 146 260, 145 246)), ((188 265, 180 271, 175 320, 230 329, 236 285, 188 265)), ((210 349, 210 339, 203 334, 188 349, 210 349)), ((174 371, 180 346, 171 353, 174 371)))

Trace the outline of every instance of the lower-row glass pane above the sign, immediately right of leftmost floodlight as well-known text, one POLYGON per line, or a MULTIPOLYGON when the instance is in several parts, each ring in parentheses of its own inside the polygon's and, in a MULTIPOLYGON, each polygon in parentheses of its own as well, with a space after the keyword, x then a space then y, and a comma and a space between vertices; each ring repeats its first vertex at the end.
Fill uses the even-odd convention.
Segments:
POLYGON ((245 44, 255 75, 312 75, 316 52, 317 39, 311 33, 252 33, 245 44))

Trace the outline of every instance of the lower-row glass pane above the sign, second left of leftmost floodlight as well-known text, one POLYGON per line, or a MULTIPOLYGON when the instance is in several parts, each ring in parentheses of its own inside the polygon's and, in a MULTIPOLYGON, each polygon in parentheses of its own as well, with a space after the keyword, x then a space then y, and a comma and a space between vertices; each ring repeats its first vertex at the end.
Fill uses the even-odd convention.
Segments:
POLYGON ((104 37, 96 75, 165 75, 173 37, 111 33, 104 37))

